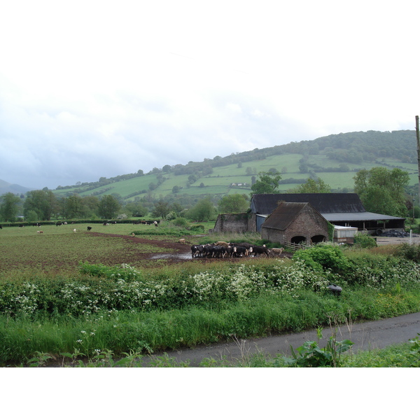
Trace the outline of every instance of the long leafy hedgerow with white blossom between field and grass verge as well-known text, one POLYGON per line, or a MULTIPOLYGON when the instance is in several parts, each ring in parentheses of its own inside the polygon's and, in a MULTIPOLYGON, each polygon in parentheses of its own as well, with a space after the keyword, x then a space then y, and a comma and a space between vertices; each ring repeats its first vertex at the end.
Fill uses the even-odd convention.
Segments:
POLYGON ((248 260, 241 265, 226 262, 202 271, 195 267, 195 271, 168 268, 146 272, 127 264, 107 267, 85 262, 80 264, 80 276, 71 279, 34 276, 0 283, 0 314, 82 316, 193 305, 221 308, 267 294, 299 298, 304 290, 328 293, 330 283, 342 286, 344 293, 360 286, 378 291, 420 286, 419 265, 410 260, 368 254, 343 258, 325 246, 307 255, 310 258, 264 263, 248 260))

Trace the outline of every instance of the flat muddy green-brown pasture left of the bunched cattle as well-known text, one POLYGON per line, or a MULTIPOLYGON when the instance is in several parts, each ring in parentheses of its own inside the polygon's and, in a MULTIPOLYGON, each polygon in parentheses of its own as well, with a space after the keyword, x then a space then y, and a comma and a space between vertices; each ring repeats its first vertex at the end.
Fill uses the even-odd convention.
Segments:
MULTIPOLYGON (((138 268, 153 268, 222 260, 191 258, 191 245, 198 244, 197 237, 185 237, 186 243, 180 243, 181 238, 148 235, 154 227, 141 229, 144 235, 132 236, 133 227, 123 224, 94 224, 90 232, 87 225, 82 224, 3 228, 0 230, 0 273, 41 271, 69 274, 78 272, 79 262, 107 266, 125 263, 138 268), (38 233, 40 230, 42 233, 38 233)), ((290 254, 281 255, 287 256, 290 254)), ((243 259, 225 260, 241 262, 243 259)))

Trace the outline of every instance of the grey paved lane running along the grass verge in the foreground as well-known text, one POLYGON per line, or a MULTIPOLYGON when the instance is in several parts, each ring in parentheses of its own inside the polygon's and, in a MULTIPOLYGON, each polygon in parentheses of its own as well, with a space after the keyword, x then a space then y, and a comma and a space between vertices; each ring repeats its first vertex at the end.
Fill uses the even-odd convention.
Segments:
MULTIPOLYGON (((418 332, 420 333, 420 312, 380 321, 353 324, 350 327, 342 325, 337 328, 337 339, 350 339, 354 343, 353 351, 382 349, 391 344, 407 342, 409 339, 416 337, 418 332)), ((325 346, 326 340, 331 335, 330 328, 323 330, 324 338, 320 341, 321 346, 325 346)), ((290 345, 293 346, 293 349, 296 349, 304 342, 316 339, 316 330, 309 330, 255 340, 239 340, 236 343, 197 346, 195 349, 168 351, 167 354, 179 361, 190 360, 191 366, 197 366, 204 358, 241 360, 257 351, 269 353, 272 356, 279 353, 290 355, 290 345)), ((161 356, 161 354, 157 353, 155 356, 161 356)), ((144 360, 147 363, 147 359, 144 360)))

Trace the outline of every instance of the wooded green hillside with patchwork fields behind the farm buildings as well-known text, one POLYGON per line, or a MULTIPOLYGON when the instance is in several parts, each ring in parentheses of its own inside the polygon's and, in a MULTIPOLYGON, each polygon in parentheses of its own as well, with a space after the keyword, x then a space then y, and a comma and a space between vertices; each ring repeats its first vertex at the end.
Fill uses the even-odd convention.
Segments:
MULTIPOLYGON (((164 163, 164 162, 162 162, 164 163)), ((59 196, 118 194, 130 202, 142 197, 179 200, 205 195, 222 197, 250 193, 258 172, 281 173, 280 191, 295 188, 308 178, 321 178, 332 192, 351 192, 353 176, 360 169, 399 167, 409 173, 410 186, 418 183, 416 134, 414 130, 395 132, 353 132, 332 134, 311 141, 300 141, 216 156, 187 165, 165 165, 148 174, 126 174, 95 183, 58 187, 59 196)))

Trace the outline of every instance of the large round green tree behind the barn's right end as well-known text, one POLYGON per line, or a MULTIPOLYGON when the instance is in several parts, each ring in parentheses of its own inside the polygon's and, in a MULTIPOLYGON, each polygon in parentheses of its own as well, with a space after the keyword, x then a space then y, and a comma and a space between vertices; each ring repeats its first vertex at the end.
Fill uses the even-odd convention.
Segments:
POLYGON ((369 171, 362 169, 353 179, 354 192, 367 211, 399 217, 407 214, 404 190, 409 183, 407 172, 374 167, 369 171))

